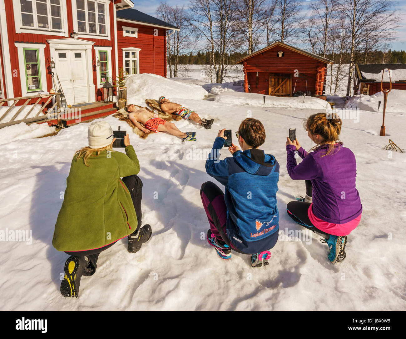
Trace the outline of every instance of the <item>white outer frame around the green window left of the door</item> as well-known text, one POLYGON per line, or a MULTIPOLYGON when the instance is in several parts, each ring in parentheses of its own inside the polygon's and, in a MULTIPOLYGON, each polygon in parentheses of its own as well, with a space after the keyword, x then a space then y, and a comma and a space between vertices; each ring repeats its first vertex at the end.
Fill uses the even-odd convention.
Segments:
POLYGON ((19 66, 19 77, 21 83, 21 96, 32 96, 37 94, 39 91, 48 91, 48 84, 47 84, 47 69, 45 67, 45 43, 20 43, 15 42, 15 47, 17 47, 18 53, 18 66, 19 66), (36 48, 38 49, 39 54, 39 67, 41 72, 41 87, 42 89, 38 89, 38 91, 29 91, 27 92, 27 83, 26 83, 26 72, 25 72, 25 64, 24 64, 24 48, 36 48))

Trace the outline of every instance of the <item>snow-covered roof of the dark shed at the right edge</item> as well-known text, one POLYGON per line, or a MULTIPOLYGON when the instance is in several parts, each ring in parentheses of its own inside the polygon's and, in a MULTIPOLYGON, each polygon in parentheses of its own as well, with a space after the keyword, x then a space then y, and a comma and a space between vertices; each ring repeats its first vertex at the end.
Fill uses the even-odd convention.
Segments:
MULTIPOLYGON (((374 83, 380 82, 382 79, 382 72, 385 69, 391 70, 392 83, 406 82, 406 64, 404 63, 373 63, 359 65, 355 64, 356 74, 361 83, 374 83)), ((388 83, 389 77, 384 76, 383 82, 388 83)))

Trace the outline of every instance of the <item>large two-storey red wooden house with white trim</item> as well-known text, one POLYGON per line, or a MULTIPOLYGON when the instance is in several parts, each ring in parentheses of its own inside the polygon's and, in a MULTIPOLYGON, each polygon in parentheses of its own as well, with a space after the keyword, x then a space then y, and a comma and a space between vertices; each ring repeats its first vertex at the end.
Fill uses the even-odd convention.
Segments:
POLYGON ((102 100, 101 87, 116 80, 120 67, 129 75, 166 76, 167 30, 179 28, 133 6, 130 0, 0 0, 0 99, 58 89, 59 80, 67 104, 76 105, 102 100))

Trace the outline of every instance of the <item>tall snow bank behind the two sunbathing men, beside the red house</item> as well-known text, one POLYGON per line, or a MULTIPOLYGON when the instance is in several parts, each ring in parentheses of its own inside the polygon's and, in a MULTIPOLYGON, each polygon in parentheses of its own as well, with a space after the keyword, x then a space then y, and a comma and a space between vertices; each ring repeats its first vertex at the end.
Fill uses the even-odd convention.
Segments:
POLYGON ((155 74, 134 74, 127 78, 127 102, 145 105, 145 99, 166 98, 203 99, 207 95, 203 87, 166 79, 155 74))

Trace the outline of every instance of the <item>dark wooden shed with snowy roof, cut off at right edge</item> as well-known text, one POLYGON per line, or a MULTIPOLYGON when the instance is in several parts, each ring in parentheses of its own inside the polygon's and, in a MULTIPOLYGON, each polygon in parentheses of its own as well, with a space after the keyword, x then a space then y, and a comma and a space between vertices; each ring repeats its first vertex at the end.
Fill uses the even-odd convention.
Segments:
MULTIPOLYGON (((406 90, 406 64, 355 64, 354 93, 372 95, 381 91, 382 70, 389 68, 394 73, 392 89, 406 90), (403 76, 402 76, 403 75, 403 76), (399 77, 400 76, 400 77, 399 77)), ((384 76, 383 89, 389 89, 389 78, 384 76)))

